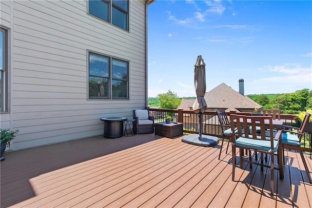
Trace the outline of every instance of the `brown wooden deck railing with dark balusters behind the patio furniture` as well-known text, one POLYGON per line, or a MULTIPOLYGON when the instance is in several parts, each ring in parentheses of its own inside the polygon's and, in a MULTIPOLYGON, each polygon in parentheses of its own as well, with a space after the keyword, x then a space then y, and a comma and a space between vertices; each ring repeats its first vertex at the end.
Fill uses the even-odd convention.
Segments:
MULTIPOLYGON (((155 117, 155 123, 164 122, 166 116, 171 116, 174 122, 183 123, 183 132, 184 133, 198 133, 198 116, 193 110, 183 110, 183 109, 159 109, 159 108, 149 108, 150 115, 155 117)), ((234 113, 235 111, 227 112, 228 115, 234 113)), ((250 115, 250 112, 239 112, 240 114, 250 115)), ((301 123, 298 119, 292 114, 281 114, 281 120, 284 120, 284 125, 290 125, 294 127, 300 127, 301 123)), ((222 132, 221 127, 219 127, 219 121, 217 119, 216 111, 205 111, 203 113, 203 126, 202 134, 219 136, 222 132)), ((312 135, 306 133, 304 135, 303 147, 304 151, 311 151, 311 137, 312 135)))

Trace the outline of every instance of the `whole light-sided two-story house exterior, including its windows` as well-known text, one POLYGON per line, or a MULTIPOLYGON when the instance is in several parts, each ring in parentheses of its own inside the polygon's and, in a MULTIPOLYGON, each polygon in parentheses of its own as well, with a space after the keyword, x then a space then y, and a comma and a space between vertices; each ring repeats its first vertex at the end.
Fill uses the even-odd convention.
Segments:
POLYGON ((20 130, 10 149, 101 135, 99 118, 147 106, 151 2, 0 1, 0 127, 20 130))

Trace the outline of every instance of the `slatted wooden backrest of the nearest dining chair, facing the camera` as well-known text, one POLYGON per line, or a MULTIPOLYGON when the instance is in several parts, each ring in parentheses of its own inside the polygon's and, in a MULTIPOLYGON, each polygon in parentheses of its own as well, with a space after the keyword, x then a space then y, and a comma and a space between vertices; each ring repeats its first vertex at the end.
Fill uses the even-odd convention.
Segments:
POLYGON ((271 140, 271 148, 273 148, 273 118, 272 116, 244 116, 231 114, 230 115, 232 132, 232 141, 236 137, 245 137, 257 140, 271 140), (256 129, 256 126, 260 126, 256 129), (244 132, 249 132, 245 134, 244 132), (266 135, 267 132, 267 135, 266 135))

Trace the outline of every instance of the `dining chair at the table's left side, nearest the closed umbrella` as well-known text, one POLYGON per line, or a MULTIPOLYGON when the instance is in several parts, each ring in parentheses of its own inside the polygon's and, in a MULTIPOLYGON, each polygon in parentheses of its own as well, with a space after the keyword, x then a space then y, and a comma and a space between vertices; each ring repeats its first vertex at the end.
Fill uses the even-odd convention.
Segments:
POLYGON ((225 153, 228 153, 228 148, 229 148, 229 144, 231 141, 231 137, 232 137, 232 133, 231 133, 231 124, 229 122, 228 116, 226 115, 225 110, 219 110, 216 111, 217 115, 218 115, 218 119, 219 119, 219 123, 220 123, 220 127, 222 129, 222 133, 221 133, 221 138, 222 138, 222 143, 221 143, 221 148, 220 148, 220 153, 219 153, 219 160, 220 160, 220 155, 222 152, 222 147, 223 147, 223 142, 224 139, 228 139, 228 146, 226 147, 226 151, 225 153))

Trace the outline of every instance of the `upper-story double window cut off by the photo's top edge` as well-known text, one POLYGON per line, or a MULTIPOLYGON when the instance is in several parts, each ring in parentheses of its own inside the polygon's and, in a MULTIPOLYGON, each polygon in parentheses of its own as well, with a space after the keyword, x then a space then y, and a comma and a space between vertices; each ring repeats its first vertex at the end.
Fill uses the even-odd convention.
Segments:
POLYGON ((89 0, 88 2, 89 14, 124 30, 129 30, 128 0, 89 0))

